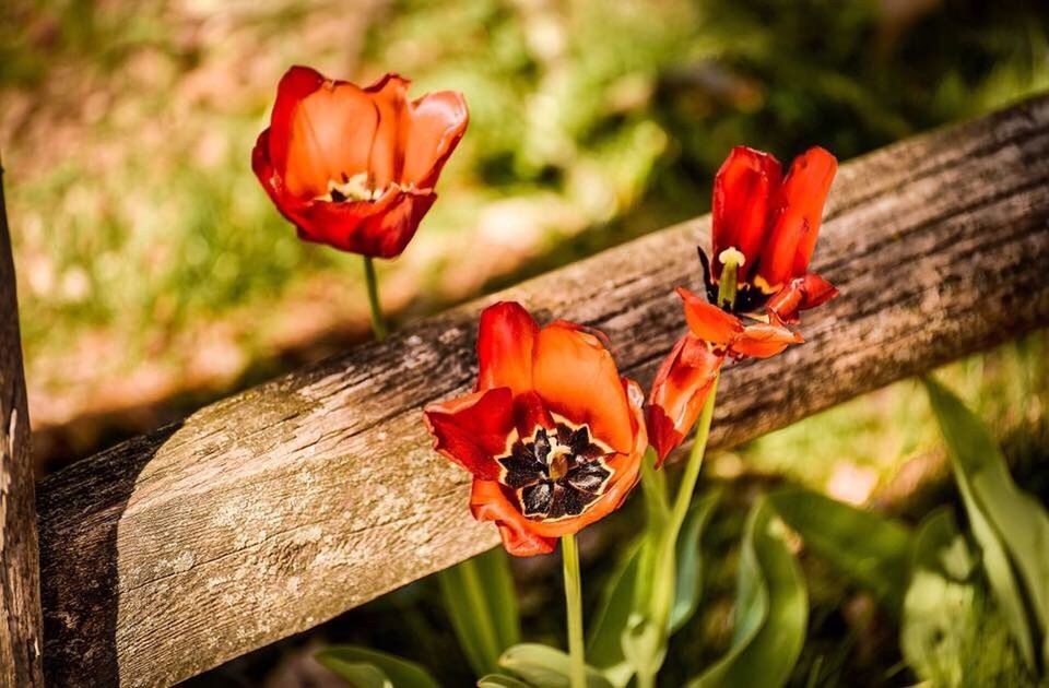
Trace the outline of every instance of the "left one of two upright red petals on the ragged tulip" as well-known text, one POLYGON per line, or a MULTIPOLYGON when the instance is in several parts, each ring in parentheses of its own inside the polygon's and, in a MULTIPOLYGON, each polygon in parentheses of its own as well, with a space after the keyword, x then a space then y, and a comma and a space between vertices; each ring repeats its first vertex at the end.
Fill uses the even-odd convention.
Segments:
POLYGON ((732 149, 714 178, 711 259, 715 277, 721 275, 718 256, 734 247, 746 258, 740 271, 740 281, 746 281, 765 242, 769 198, 781 178, 779 161, 768 153, 746 146, 732 149))

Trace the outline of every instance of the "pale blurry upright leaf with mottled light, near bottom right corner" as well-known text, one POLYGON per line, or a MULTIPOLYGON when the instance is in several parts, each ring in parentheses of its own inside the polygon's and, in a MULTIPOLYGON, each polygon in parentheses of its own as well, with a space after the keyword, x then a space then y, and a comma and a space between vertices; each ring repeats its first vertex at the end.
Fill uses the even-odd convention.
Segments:
POLYGON ((947 508, 926 517, 912 549, 910 585, 904 597, 899 645, 922 680, 959 686, 963 657, 979 622, 977 591, 968 578, 975 558, 947 508))

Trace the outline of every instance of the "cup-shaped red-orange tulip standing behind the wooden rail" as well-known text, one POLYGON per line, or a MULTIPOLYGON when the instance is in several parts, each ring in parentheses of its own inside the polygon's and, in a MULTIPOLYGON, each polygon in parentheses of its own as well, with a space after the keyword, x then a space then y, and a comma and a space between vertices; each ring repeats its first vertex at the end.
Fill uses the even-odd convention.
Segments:
POLYGON ((469 119, 461 94, 410 102, 409 83, 361 88, 308 67, 281 79, 251 167, 300 238, 374 258, 408 246, 469 119))

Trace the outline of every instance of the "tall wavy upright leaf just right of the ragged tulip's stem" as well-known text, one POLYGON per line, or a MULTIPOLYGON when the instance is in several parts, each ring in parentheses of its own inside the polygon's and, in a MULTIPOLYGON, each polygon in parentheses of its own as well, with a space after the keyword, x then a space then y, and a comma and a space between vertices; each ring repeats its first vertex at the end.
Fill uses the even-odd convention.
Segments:
POLYGON ((691 688, 787 683, 805 640, 809 596, 786 537, 783 522, 759 498, 743 534, 732 647, 691 688))

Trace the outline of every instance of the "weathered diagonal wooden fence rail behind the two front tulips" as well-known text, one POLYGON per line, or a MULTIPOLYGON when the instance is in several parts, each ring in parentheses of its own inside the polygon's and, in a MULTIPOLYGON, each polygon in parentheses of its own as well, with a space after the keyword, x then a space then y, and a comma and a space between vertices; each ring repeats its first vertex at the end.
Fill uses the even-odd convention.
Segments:
MULTIPOLYGON (((449 202, 446 200, 445 202, 449 202)), ((651 234, 78 463, 39 489, 46 675, 169 684, 482 551, 429 401, 475 376, 479 310, 598 327, 647 384, 684 331, 707 217, 651 234)), ((808 342, 727 368, 715 447, 1049 324, 1049 98, 845 165, 808 342)))

